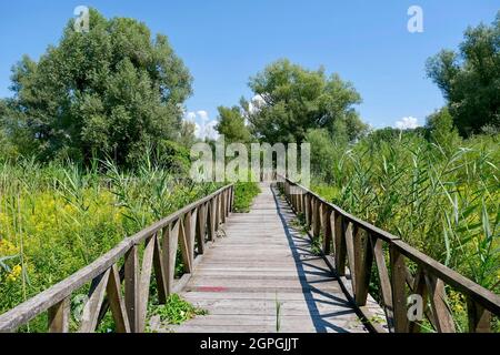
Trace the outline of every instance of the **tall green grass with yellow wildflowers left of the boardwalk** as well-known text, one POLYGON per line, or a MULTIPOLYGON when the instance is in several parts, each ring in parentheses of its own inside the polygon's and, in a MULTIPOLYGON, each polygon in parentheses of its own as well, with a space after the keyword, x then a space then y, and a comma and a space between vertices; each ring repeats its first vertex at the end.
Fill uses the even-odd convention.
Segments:
MULTIPOLYGON (((0 164, 0 314, 219 187, 148 164, 133 172, 109 162, 84 170, 26 160, 0 164)), ((46 325, 40 316, 21 331, 46 325)))

